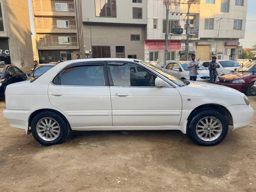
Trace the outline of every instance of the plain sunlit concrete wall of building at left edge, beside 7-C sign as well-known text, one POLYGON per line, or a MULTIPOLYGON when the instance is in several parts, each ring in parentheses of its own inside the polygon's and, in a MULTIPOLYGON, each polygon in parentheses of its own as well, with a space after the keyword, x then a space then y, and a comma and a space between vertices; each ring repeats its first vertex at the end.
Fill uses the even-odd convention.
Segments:
POLYGON ((0 1, 0 61, 26 72, 34 65, 27 1, 0 1))

